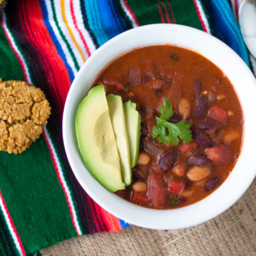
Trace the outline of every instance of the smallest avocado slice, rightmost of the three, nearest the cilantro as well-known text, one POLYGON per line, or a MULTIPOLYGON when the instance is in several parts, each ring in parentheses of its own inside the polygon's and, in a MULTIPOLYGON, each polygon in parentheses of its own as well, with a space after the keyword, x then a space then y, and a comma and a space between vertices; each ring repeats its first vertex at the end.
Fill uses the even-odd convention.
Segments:
POLYGON ((126 130, 129 139, 131 167, 133 168, 137 164, 140 147, 140 113, 136 110, 136 103, 130 100, 123 105, 126 130))

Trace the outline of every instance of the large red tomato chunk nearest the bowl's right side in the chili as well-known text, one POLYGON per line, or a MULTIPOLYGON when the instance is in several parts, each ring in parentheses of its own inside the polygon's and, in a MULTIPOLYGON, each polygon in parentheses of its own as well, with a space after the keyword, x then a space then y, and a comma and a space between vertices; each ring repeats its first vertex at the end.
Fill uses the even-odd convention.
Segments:
POLYGON ((227 144, 222 144, 216 147, 207 149, 206 156, 215 164, 227 164, 231 157, 231 147, 227 144))

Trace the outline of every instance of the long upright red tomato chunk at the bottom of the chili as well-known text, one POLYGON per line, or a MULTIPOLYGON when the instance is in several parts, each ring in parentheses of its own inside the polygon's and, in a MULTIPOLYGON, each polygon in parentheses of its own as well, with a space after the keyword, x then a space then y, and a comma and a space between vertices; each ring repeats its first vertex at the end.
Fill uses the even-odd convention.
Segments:
POLYGON ((147 196, 154 207, 161 208, 164 206, 166 198, 164 180, 157 172, 149 174, 147 196))

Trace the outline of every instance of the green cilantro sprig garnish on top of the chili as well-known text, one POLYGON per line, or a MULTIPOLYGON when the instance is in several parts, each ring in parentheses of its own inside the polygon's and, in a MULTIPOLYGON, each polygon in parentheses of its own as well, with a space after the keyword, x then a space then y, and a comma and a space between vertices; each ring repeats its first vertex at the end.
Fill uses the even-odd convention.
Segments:
POLYGON ((192 141, 190 125, 185 121, 178 124, 168 122, 167 120, 173 115, 172 103, 168 98, 163 99, 164 107, 160 106, 161 116, 156 116, 156 125, 153 127, 152 137, 157 138, 158 142, 177 146, 179 139, 183 142, 192 141))

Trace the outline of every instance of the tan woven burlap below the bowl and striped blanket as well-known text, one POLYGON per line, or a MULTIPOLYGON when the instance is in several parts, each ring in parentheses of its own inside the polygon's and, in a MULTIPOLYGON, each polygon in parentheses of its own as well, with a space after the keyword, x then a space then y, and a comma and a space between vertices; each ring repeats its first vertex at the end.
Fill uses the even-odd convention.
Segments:
POLYGON ((43 256, 256 256, 255 196, 256 179, 226 212, 201 225, 169 231, 130 226, 116 233, 98 233, 69 239, 43 249, 41 253, 43 256))

